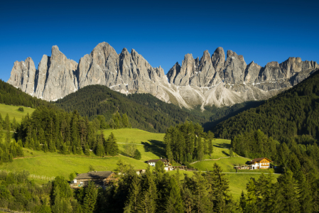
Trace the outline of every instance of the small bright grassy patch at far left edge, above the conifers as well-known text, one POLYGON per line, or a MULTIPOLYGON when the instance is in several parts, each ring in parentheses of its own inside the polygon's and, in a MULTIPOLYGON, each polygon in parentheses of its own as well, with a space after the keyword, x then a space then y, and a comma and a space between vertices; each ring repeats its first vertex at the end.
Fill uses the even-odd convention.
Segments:
POLYGON ((12 122, 13 117, 16 118, 16 121, 18 123, 21 122, 22 116, 26 116, 26 114, 32 114, 35 109, 23 107, 24 111, 18 111, 19 107, 6 105, 6 104, 0 104, 0 113, 2 116, 2 119, 6 118, 6 114, 9 114, 10 121, 12 122))

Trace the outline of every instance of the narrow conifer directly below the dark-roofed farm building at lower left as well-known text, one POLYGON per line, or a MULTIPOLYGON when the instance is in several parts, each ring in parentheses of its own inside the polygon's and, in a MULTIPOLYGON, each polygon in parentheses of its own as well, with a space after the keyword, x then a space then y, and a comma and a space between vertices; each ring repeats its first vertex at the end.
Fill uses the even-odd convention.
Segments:
POLYGON ((88 182, 85 189, 85 197, 83 200, 84 212, 94 212, 95 204, 97 203, 97 189, 93 181, 88 182))

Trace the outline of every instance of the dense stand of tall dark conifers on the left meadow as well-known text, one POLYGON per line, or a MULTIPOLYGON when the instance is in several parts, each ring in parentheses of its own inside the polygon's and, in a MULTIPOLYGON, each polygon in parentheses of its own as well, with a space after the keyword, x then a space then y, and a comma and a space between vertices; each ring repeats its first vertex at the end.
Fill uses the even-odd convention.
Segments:
MULTIPOLYGON (((115 116, 121 119, 121 124, 129 125, 127 117, 115 116)), ((99 122, 89 121, 76 110, 68 113, 55 107, 38 107, 31 116, 27 114, 22 118, 15 137, 21 146, 37 151, 77 155, 90 155, 90 151, 94 151, 99 156, 117 155, 119 148, 114 134, 105 139, 99 128, 99 122)))

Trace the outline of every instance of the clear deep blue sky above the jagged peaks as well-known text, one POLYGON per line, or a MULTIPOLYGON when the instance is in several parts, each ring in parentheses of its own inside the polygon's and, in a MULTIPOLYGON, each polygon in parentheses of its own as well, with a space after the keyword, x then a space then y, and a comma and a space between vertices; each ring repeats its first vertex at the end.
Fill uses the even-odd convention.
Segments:
POLYGON ((79 61, 101 42, 121 53, 134 48, 164 71, 192 53, 217 47, 258 63, 288 57, 319 62, 318 1, 0 1, 0 78, 13 62, 58 45, 79 61))

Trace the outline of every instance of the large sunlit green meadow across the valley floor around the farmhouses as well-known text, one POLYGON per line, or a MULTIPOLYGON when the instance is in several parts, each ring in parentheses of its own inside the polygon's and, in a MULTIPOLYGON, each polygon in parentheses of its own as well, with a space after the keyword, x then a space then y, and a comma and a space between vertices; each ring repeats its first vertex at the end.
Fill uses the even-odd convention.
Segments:
MULTIPOLYGON (((139 145, 136 145, 136 148, 141 152, 141 160, 127 158, 122 155, 107 158, 99 158, 93 154, 90 157, 72 154, 60 155, 59 153, 43 153, 43 151, 31 151, 30 149, 23 148, 26 158, 14 159, 13 163, 4 163, 0 166, 0 170, 28 170, 34 175, 45 175, 46 177, 63 175, 68 179, 70 173, 87 173, 90 165, 93 165, 95 170, 114 170, 117 168, 117 161, 121 158, 124 162, 133 165, 136 169, 144 169, 147 167, 144 161, 165 156, 162 143, 164 134, 149 133, 139 129, 117 129, 104 130, 104 136, 109 136, 111 132, 113 132, 117 138, 120 151, 124 151, 126 138, 129 138, 129 141, 138 143, 139 145)), ((227 155, 229 155, 229 140, 216 139, 213 143, 213 159, 227 157, 227 155)), ((206 155, 206 158, 210 158, 210 156, 206 155)), ((249 159, 239 157, 222 158, 220 160, 201 161, 194 163, 193 166, 200 170, 210 170, 212 165, 217 163, 222 167, 224 172, 235 172, 233 166, 238 165, 238 163, 244 164, 247 160, 249 159)), ((170 172, 170 174, 173 173, 175 173, 175 171, 170 172)), ((192 175, 193 172, 180 171, 180 174, 192 175)), ((235 199, 239 198, 242 190, 246 192, 246 184, 249 178, 258 179, 259 176, 260 174, 226 174, 226 178, 229 180, 230 194, 235 199)), ((181 178, 183 178, 183 175, 181 175, 181 178)), ((39 183, 46 182, 45 180, 36 181, 39 183)))

